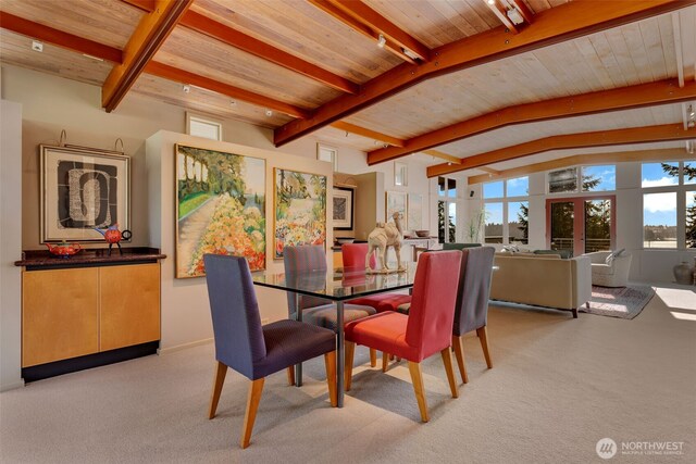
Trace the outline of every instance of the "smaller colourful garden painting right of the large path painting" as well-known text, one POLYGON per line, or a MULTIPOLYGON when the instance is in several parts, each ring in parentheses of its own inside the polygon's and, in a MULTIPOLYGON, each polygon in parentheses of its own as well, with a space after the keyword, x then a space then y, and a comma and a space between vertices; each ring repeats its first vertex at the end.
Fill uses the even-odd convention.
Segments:
POLYGON ((326 176, 275 167, 274 258, 285 246, 326 242, 326 176))

